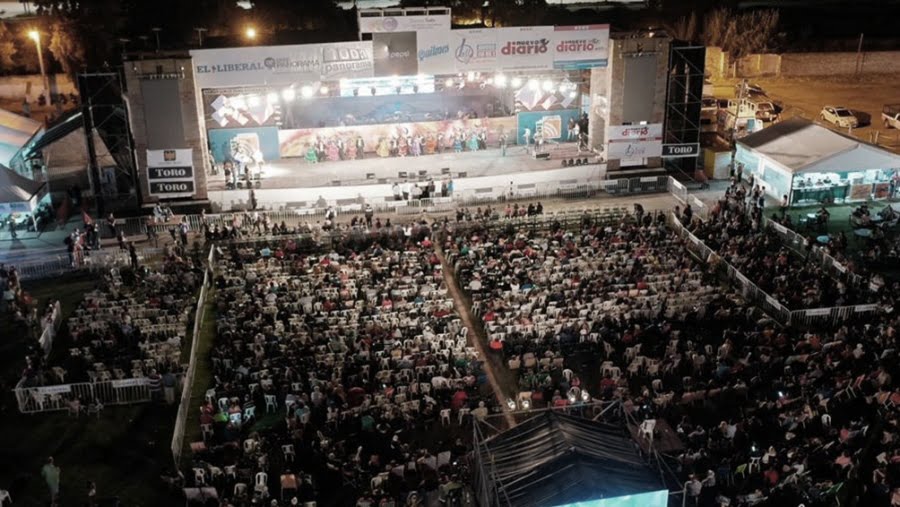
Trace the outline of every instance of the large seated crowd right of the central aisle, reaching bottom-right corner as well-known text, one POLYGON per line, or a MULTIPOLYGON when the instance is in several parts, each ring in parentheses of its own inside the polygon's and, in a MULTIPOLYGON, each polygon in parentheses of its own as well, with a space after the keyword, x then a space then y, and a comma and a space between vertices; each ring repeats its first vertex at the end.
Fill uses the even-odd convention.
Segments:
POLYGON ((708 285, 662 221, 646 221, 447 241, 491 353, 518 372, 518 408, 620 401, 646 445, 676 457, 688 505, 896 504, 893 305, 781 328, 708 285))

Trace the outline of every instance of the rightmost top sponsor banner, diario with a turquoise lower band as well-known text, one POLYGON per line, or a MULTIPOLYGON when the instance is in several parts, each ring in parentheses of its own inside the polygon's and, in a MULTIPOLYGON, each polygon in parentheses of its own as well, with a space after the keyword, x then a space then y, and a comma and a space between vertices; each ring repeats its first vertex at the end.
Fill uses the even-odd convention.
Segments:
POLYGON ((606 67, 609 25, 556 26, 550 34, 550 44, 554 69, 606 67))

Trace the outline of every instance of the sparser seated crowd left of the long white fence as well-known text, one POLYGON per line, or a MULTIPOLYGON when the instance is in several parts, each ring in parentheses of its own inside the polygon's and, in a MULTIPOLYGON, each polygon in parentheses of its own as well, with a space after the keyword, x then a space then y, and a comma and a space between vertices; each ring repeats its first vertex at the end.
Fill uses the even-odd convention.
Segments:
MULTIPOLYGON (((18 387, 147 378, 152 397, 174 403, 184 362, 182 341, 202 280, 199 264, 174 253, 157 269, 107 270, 66 322, 68 354, 51 361, 42 348, 33 347, 18 387)), ((104 401, 99 391, 92 399, 83 396, 33 390, 24 401, 31 408, 50 405, 73 412, 104 401)))

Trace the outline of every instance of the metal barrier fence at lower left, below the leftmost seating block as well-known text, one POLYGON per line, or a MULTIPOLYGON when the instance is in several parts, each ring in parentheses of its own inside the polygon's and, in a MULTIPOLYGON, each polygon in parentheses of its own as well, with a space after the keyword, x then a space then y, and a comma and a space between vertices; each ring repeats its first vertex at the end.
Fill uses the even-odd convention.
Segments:
POLYGON ((41 387, 24 387, 21 384, 13 392, 19 412, 23 414, 68 410, 75 400, 87 408, 97 403, 129 405, 152 399, 150 380, 145 377, 41 387))

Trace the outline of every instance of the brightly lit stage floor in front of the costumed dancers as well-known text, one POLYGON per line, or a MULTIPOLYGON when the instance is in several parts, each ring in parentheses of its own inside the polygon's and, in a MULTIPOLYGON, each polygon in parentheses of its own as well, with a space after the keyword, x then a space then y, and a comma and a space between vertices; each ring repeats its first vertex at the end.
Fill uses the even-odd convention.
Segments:
MULTIPOLYGON (((575 157, 587 158, 596 162, 589 154, 578 155, 575 143, 550 145, 545 149, 549 159, 535 159, 524 146, 511 146, 506 156, 499 149, 488 149, 475 152, 444 152, 421 157, 388 157, 380 158, 372 154, 362 160, 345 160, 339 162, 321 162, 310 164, 302 158, 288 158, 266 162, 259 188, 309 188, 393 184, 403 181, 401 172, 406 172, 410 181, 418 181, 419 171, 426 171, 435 181, 441 178, 457 178, 461 172, 467 178, 481 176, 497 176, 531 171, 545 171, 562 167, 562 160, 575 157), (443 175, 442 170, 450 170, 443 175), (381 180, 381 181, 379 181, 381 180), (387 180, 387 181, 385 181, 387 180)), ((219 173, 207 178, 209 191, 221 191, 225 188, 225 175, 219 173)))

